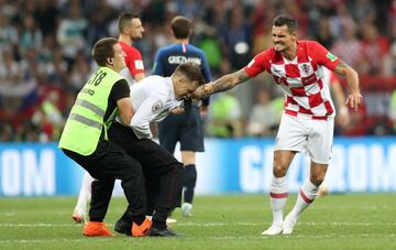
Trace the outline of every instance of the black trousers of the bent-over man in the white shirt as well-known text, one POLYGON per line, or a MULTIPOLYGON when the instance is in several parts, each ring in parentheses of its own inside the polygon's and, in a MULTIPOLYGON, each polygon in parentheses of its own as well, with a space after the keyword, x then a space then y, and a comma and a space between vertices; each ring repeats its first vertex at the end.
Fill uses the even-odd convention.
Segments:
POLYGON ((113 122, 108 131, 110 141, 136 159, 143 169, 147 197, 146 215, 169 210, 182 203, 183 163, 150 139, 139 139, 131 128, 113 122))

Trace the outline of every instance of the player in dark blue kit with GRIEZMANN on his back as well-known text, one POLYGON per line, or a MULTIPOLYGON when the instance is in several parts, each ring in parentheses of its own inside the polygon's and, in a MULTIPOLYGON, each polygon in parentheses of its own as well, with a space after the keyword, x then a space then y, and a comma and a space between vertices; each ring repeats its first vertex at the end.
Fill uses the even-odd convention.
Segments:
MULTIPOLYGON (((172 32, 175 43, 161 48, 156 56, 154 75, 170 76, 176 67, 186 62, 197 64, 204 75, 206 83, 210 81, 211 75, 209 64, 204 51, 189 44, 193 33, 191 23, 184 17, 172 20, 172 32)), ((209 99, 204 100, 202 110, 207 110, 209 99)), ((197 170, 195 152, 204 152, 204 131, 200 118, 199 105, 186 102, 186 111, 182 115, 169 115, 158 124, 160 144, 170 153, 174 153, 176 143, 180 143, 184 174, 182 183, 184 186, 184 203, 182 214, 191 216, 194 188, 197 182, 197 170)))

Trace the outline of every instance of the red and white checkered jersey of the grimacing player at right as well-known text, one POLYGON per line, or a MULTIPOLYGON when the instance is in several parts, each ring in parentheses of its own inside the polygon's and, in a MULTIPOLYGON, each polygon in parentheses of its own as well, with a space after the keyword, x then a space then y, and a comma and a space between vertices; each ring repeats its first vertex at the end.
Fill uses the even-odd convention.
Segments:
POLYGON ((334 117, 322 66, 333 70, 340 59, 315 41, 297 42, 297 56, 288 61, 273 47, 257 54, 244 70, 254 77, 267 70, 285 93, 285 112, 295 117, 327 120, 334 117))

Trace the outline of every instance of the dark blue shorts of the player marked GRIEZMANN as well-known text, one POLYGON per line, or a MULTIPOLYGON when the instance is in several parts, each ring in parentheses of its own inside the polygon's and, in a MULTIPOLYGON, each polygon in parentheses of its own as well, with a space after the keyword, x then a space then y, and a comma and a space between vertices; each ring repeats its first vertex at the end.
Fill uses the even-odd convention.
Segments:
POLYGON ((202 120, 199 108, 193 106, 190 113, 169 113, 158 124, 160 144, 174 153, 176 143, 180 151, 204 152, 202 120))

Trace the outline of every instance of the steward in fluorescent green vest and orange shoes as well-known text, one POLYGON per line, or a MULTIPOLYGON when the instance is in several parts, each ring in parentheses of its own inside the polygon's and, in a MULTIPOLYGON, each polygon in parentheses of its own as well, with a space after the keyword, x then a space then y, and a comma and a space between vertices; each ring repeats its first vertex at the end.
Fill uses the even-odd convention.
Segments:
POLYGON ((103 219, 117 178, 121 180, 129 203, 131 235, 145 236, 151 227, 144 216, 142 166, 107 135, 116 115, 125 124, 131 123, 134 115, 128 81, 118 74, 125 66, 124 56, 116 39, 102 39, 95 44, 92 57, 99 68, 79 91, 59 141, 64 153, 96 178, 91 184, 89 222, 82 230, 86 236, 112 236, 103 219))

